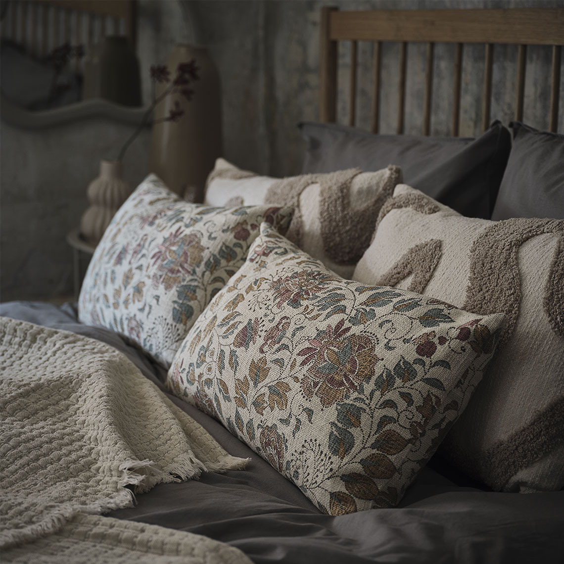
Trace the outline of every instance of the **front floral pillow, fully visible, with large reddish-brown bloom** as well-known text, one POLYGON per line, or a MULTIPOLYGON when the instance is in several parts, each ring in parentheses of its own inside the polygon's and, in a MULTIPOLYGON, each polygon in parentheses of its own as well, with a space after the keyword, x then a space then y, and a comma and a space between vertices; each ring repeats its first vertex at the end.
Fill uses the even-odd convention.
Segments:
POLYGON ((343 280, 263 223, 167 385, 321 511, 386 508, 464 409, 504 322, 343 280))

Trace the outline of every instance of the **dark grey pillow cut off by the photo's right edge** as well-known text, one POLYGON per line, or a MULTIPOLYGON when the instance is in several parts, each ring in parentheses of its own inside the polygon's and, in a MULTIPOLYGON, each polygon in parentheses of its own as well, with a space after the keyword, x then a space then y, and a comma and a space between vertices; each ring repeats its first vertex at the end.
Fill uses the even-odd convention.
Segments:
POLYGON ((564 135, 512 121, 513 146, 492 219, 564 219, 564 135))

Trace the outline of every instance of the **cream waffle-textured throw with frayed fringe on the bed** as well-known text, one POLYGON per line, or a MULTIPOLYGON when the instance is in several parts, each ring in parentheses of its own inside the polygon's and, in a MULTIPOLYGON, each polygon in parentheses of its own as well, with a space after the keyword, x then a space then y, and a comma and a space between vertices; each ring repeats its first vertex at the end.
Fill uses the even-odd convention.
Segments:
POLYGON ((125 355, 0 318, 0 370, 3 561, 60 562, 65 553, 65 562, 138 563, 148 553, 156 563, 249 562, 200 535, 92 516, 133 505, 134 492, 157 483, 246 463, 125 355))

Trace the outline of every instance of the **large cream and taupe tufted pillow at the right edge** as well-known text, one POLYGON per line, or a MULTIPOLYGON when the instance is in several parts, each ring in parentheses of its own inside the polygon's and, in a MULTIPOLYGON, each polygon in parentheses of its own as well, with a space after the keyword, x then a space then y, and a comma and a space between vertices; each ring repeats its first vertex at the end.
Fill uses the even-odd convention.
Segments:
POLYGON ((399 185, 354 279, 508 316, 439 453, 497 491, 564 486, 564 221, 462 217, 399 185))

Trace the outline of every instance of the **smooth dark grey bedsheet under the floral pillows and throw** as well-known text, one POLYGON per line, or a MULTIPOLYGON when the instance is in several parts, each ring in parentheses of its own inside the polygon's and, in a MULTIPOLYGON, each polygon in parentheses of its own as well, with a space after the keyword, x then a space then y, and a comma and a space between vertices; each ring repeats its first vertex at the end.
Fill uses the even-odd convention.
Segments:
MULTIPOLYGON (((0 314, 66 329, 124 352, 161 386, 164 376, 138 349, 78 323, 73 307, 10 302, 0 314)), ((112 517, 187 530, 243 550, 257 563, 564 563, 564 492, 519 495, 455 484, 424 468, 395 509, 331 517, 212 418, 174 400, 236 456, 243 472, 156 486, 112 517)))

